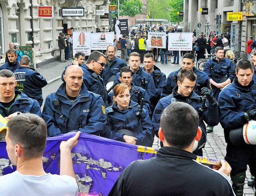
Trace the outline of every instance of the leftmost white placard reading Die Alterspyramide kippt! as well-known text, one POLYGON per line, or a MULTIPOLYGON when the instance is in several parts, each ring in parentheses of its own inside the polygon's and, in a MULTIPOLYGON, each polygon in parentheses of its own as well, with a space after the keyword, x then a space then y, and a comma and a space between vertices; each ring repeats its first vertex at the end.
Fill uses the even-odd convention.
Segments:
POLYGON ((73 54, 91 54, 91 32, 73 32, 73 54))

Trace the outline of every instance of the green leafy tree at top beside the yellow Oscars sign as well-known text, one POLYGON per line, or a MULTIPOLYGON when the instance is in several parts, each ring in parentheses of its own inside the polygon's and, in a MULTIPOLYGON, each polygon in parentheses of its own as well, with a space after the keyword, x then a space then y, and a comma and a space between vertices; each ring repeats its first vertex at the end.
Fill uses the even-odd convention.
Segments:
MULTIPOLYGON (((117 0, 112 0, 110 5, 117 5, 117 0)), ((141 0, 119 0, 119 14, 120 16, 134 17, 142 12, 142 5, 141 0)), ((116 13, 112 13, 112 16, 117 17, 118 10, 116 13)))

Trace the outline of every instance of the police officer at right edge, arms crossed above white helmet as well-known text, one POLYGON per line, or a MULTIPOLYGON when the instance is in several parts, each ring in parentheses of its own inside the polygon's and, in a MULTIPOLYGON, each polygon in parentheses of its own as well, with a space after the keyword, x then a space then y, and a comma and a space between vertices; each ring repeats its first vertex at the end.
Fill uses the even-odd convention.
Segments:
MULTIPOLYGON (((256 57, 253 57, 256 60, 256 57)), ((256 63, 254 63, 256 64, 256 63)), ((248 60, 236 64, 236 78, 220 94, 218 102, 221 110, 220 124, 224 128, 227 143, 225 160, 230 164, 231 180, 236 195, 243 195, 247 164, 252 176, 256 175, 256 146, 234 145, 229 134, 233 129, 242 127, 249 120, 256 120, 256 84, 252 79, 253 66, 248 60)))

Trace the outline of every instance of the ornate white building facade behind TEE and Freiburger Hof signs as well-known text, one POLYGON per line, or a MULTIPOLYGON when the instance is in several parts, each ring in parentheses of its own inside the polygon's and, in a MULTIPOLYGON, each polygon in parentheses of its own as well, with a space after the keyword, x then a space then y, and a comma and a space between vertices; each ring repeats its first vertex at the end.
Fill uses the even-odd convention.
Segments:
MULTIPOLYGON (((108 13, 108 0, 0 0, 0 47, 4 55, 9 42, 20 46, 33 45, 34 63, 37 65, 59 56, 58 36, 63 32, 63 24, 72 31, 95 32, 95 21, 100 30, 108 31, 108 19, 96 16, 96 10, 108 13), (52 18, 38 17, 38 6, 53 6, 52 18), (62 7, 84 7, 83 17, 61 17, 62 7), (33 35, 33 38, 31 38, 33 35), (34 41, 32 41, 34 40, 34 41)), ((4 63, 4 58, 0 64, 4 63)))

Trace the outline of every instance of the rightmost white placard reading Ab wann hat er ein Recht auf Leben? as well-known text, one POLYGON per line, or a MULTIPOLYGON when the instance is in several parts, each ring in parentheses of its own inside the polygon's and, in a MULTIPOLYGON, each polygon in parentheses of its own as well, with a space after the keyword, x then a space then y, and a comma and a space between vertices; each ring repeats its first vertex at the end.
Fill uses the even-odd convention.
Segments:
POLYGON ((192 50, 193 33, 168 33, 168 50, 192 50))

